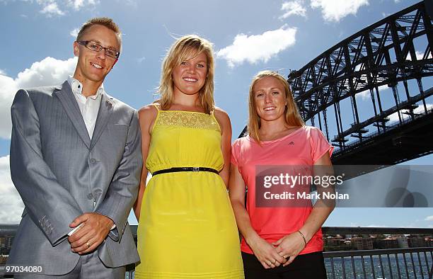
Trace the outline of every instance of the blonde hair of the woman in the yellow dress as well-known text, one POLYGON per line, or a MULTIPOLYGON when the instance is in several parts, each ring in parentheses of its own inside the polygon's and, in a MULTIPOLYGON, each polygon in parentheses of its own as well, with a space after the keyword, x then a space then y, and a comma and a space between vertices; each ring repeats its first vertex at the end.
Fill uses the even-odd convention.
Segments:
POLYGON ((214 57, 212 43, 197 35, 185 35, 176 40, 168 50, 163 60, 161 69, 161 81, 158 86, 158 93, 161 98, 155 101, 161 106, 161 110, 168 110, 174 98, 173 71, 188 57, 197 57, 204 53, 207 57, 207 74, 202 89, 199 91, 200 105, 206 113, 214 110, 214 57))

